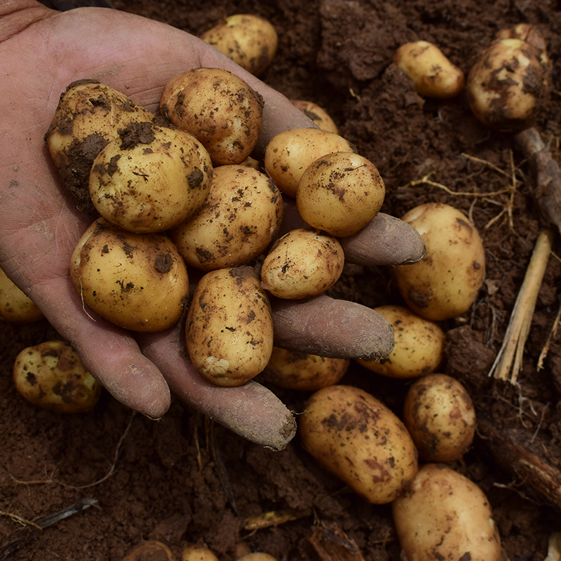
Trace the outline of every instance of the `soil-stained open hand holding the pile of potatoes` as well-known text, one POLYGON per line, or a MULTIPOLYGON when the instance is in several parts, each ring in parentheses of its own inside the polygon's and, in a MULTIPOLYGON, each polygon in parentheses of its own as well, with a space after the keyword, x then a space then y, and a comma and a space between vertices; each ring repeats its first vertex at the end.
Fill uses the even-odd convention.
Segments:
MULTIPOLYGON (((0 266, 71 342, 88 369, 122 403, 161 417, 170 390, 245 438, 276 449, 292 438, 292 415, 263 386, 217 388, 185 358, 180 326, 135 334, 83 309, 69 278, 77 241, 92 222, 62 193, 43 144, 60 93, 97 78, 156 113, 165 83, 192 67, 222 67, 264 96, 261 144, 289 128, 311 126, 288 100, 214 48, 178 29, 107 8, 59 13, 34 0, 0 6, 0 266)), ((414 262, 424 251, 407 224, 380 215, 344 241, 362 264, 414 262), (372 241, 375 240, 375 243, 372 241)), ((317 297, 274 311, 277 343, 325 356, 379 357, 393 332, 378 314, 317 297)))

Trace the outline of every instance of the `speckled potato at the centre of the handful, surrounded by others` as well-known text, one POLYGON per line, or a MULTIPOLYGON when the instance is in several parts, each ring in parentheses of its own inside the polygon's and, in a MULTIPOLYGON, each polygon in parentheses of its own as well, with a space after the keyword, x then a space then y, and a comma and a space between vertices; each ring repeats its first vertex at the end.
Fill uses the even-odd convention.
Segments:
POLYGON ((187 264, 212 271, 261 255, 282 220, 283 197, 270 177, 241 165, 221 165, 203 206, 170 237, 187 264))

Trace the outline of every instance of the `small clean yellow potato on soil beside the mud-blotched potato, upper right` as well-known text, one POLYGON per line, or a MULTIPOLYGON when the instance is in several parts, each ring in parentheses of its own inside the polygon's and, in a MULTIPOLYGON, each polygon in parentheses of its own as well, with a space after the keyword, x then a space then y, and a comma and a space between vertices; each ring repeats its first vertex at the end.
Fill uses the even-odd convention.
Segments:
POLYGON ((445 99, 458 95, 464 88, 464 72, 428 41, 400 46, 393 55, 393 64, 412 79, 421 95, 445 99))

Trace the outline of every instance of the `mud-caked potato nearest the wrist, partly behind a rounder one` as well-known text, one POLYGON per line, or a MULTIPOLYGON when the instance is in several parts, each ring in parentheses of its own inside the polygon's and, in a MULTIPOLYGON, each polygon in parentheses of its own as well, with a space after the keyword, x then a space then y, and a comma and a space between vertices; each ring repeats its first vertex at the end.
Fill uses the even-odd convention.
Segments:
POLYGON ((130 123, 153 119, 149 111, 97 80, 69 84, 60 96, 45 142, 62 186, 74 196, 79 209, 97 215, 88 190, 97 154, 130 123))

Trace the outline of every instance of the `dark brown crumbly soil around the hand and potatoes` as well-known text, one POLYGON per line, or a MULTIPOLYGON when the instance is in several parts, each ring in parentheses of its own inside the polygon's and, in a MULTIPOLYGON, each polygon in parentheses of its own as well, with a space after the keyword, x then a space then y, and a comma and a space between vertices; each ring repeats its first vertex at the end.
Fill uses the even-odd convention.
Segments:
MULTIPOLYGON (((114 0, 114 5, 194 34, 232 13, 264 16, 278 31, 279 48, 262 79, 332 115, 340 133, 379 167, 387 187, 386 212, 401 216, 417 204, 442 201, 473 219, 485 243, 486 280, 468 313, 442 323, 447 332, 442 372, 468 388, 480 425, 471 450, 452 466, 487 494, 503 559, 542 561, 550 534, 561 531, 559 496, 517 469, 516 458, 529 454, 553 478, 561 470, 559 336, 551 341, 543 369, 536 368, 560 306, 560 259, 550 257, 518 385, 494 380, 489 368, 540 229, 534 177, 513 135, 480 125, 464 95, 422 99, 391 60, 401 43, 426 39, 468 72, 499 29, 518 22, 539 26, 553 60, 553 90, 536 128, 557 157, 561 4, 114 0), (434 184, 408 186, 428 174, 434 184)), ((391 273, 346 266, 332 293, 368 306, 400 303, 391 273)), ((10 559, 121 561, 142 541, 159 539, 176 552, 186 541, 205 543, 222 561, 250 550, 279 561, 313 561, 327 559, 313 544, 333 545, 337 529, 367 561, 399 559, 390 508, 359 499, 302 450, 298 436, 283 452, 264 450, 177 400, 159 422, 134 415, 107 393, 89 414, 39 410, 15 391, 11 367, 25 346, 56 334, 43 322, 0 324, 0 337, 0 548, 21 535, 16 516, 36 520, 83 498, 98 501, 42 532, 29 527, 10 559), (292 520, 257 531, 245 528, 247 518, 269 511, 290 513, 292 520)), ((407 384, 358 365, 343 381, 370 391, 400 414, 407 384)), ((275 391, 292 410, 302 410, 306 394, 275 391)), ((346 557, 339 558, 360 558, 351 557, 358 555, 351 546, 343 549, 346 557)))

